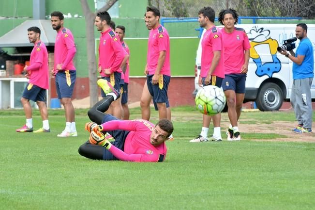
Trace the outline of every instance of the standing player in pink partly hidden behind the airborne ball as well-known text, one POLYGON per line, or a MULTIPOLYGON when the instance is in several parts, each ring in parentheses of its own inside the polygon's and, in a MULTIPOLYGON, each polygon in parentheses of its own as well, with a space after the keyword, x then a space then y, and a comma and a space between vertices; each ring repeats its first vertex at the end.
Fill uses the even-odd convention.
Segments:
MULTIPOLYGON (((215 12, 211 7, 204 7, 198 13, 201 27, 207 30, 202 39, 201 71, 199 85, 215 85, 221 87, 224 79, 224 46, 220 30, 214 25, 215 12)), ((222 141, 221 113, 209 116, 203 114, 200 135, 190 142, 222 141), (213 135, 208 139, 211 118, 213 119, 213 135)))

